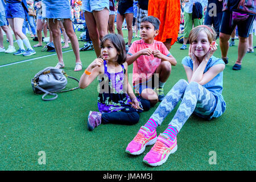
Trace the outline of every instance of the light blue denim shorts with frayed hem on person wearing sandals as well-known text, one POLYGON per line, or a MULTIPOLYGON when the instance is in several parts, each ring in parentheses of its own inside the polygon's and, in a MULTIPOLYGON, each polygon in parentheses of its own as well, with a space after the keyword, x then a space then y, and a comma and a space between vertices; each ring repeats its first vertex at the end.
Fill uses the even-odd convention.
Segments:
POLYGON ((44 0, 42 1, 43 19, 72 19, 71 6, 65 0, 44 0))

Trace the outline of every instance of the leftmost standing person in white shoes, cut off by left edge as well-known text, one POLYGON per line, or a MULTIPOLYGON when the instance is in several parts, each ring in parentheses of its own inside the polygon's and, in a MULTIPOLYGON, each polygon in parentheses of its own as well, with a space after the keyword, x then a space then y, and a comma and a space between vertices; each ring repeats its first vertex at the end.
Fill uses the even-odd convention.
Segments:
MULTIPOLYGON (((5 47, 3 47, 3 34, 1 34, 0 39, 0 52, 5 53, 13 53, 15 52, 15 47, 13 46, 13 35, 11 35, 11 31, 9 27, 7 26, 6 16, 5 16, 5 2, 3 0, 0 0, 0 27, 6 34, 6 38, 9 40, 10 46, 6 50, 5 47)), ((2 30, 0 29, 1 33, 2 30)))

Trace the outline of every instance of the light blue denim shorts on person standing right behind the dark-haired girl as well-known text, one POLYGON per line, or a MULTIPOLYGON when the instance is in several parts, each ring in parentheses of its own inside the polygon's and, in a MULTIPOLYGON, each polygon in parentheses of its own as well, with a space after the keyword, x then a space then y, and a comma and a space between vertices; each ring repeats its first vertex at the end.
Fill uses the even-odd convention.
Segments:
POLYGON ((84 0, 81 9, 92 13, 93 11, 109 10, 109 0, 84 0))

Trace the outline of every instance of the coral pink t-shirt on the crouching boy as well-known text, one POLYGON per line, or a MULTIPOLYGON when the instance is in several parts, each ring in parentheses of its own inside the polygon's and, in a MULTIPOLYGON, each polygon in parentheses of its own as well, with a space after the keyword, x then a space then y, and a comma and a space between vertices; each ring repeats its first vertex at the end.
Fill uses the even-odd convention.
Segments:
MULTIPOLYGON (((147 44, 142 39, 134 41, 133 44, 131 44, 131 47, 127 54, 134 55, 138 51, 146 48, 150 48, 152 51, 159 50, 163 55, 166 56, 171 55, 171 53, 162 42, 154 40, 153 44, 147 44)), ((155 73, 156 68, 158 68, 160 63, 161 59, 159 59, 158 57, 154 57, 154 55, 139 56, 137 60, 133 62, 133 85, 134 82, 138 82, 140 78, 145 79, 151 77, 155 73)))

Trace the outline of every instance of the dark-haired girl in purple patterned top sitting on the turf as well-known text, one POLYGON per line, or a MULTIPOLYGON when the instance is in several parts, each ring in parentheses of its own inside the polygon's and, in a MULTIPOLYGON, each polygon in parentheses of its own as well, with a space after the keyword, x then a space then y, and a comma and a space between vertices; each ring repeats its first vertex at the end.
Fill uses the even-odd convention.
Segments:
POLYGON ((108 34, 101 39, 101 57, 95 59, 79 82, 84 89, 98 76, 98 109, 88 115, 88 129, 92 131, 101 123, 134 125, 139 122, 142 110, 150 108, 150 102, 138 100, 133 93, 128 77, 125 41, 121 35, 108 34))

